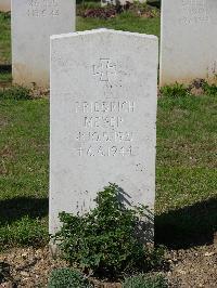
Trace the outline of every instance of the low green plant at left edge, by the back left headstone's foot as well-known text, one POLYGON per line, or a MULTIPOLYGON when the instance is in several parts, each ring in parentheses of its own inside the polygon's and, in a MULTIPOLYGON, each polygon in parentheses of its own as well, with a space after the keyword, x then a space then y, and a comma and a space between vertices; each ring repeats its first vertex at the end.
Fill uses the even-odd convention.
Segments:
POLYGON ((29 100, 30 91, 27 88, 14 86, 0 90, 0 100, 29 100))

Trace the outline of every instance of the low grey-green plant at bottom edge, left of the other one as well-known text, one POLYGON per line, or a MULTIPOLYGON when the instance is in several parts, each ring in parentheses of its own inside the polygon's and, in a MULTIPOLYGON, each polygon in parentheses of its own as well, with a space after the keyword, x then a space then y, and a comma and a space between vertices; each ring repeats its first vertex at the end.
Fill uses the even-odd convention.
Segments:
POLYGON ((48 288, 91 288, 93 287, 76 270, 56 269, 53 270, 49 279, 48 288))

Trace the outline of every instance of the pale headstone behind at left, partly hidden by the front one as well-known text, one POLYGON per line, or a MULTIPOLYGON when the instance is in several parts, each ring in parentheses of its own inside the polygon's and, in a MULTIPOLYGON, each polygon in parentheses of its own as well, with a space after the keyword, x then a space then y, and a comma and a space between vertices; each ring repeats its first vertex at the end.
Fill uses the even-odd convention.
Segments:
POLYGON ((13 82, 48 88, 50 36, 74 30, 74 0, 12 0, 13 82))

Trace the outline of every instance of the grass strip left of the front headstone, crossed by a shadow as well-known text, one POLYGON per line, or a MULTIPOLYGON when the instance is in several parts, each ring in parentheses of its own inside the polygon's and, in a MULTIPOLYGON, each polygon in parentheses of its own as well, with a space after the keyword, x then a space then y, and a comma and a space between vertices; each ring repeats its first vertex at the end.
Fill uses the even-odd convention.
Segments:
POLYGON ((0 100, 0 247, 47 237, 48 143, 48 101, 0 100))

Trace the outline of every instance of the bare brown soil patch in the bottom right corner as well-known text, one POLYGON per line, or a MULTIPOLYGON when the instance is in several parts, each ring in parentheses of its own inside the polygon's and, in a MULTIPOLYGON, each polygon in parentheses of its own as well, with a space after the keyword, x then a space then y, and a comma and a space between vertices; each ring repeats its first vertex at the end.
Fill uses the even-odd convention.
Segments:
POLYGON ((170 287, 217 287, 217 237, 213 245, 173 250, 168 256, 170 267, 166 277, 170 287))

